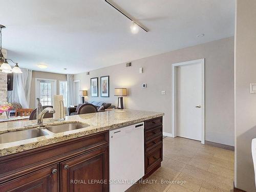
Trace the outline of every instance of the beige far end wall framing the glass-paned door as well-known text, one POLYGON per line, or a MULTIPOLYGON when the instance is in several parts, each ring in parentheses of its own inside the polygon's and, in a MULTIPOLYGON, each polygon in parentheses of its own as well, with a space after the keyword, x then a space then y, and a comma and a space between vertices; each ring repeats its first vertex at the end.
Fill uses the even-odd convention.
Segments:
POLYGON ((56 79, 57 87, 56 94, 59 93, 59 80, 66 81, 67 75, 58 74, 58 73, 47 73, 40 71, 32 71, 32 81, 31 81, 31 93, 30 93, 30 108, 35 108, 35 78, 44 78, 44 79, 56 79))

